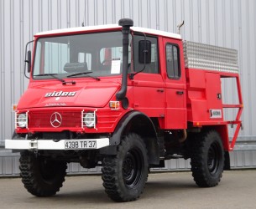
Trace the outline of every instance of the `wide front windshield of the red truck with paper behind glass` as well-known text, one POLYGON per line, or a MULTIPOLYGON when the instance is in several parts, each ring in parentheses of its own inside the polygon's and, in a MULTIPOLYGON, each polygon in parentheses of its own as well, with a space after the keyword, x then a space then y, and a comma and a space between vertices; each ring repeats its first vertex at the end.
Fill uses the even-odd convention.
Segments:
MULTIPOLYGON (((112 76, 122 73, 121 31, 39 38, 34 79, 112 76)), ((131 49, 129 48, 129 63, 131 49)))

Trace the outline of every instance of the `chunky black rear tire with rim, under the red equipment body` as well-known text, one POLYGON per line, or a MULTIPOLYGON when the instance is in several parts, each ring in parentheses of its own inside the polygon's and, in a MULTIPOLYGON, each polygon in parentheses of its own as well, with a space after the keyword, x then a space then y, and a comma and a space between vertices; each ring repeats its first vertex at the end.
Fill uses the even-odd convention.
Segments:
POLYGON ((201 133, 191 150, 191 171, 200 187, 217 186, 224 168, 222 139, 215 130, 201 133))

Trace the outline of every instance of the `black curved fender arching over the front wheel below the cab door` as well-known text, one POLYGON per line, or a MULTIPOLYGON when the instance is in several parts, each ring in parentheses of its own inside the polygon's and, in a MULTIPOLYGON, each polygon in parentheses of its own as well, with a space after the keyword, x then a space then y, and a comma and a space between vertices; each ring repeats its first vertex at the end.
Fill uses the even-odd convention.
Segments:
POLYGON ((159 144, 154 123, 147 115, 131 111, 119 121, 111 139, 111 145, 119 145, 120 140, 128 133, 140 135, 148 150, 149 164, 159 164, 159 144))

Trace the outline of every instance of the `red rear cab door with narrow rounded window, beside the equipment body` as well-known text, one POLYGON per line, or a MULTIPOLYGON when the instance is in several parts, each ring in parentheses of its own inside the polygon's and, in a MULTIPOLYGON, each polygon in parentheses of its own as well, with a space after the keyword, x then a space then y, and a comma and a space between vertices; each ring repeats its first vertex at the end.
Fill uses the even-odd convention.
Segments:
POLYGON ((185 66, 182 41, 163 38, 165 67, 165 129, 187 127, 185 66))

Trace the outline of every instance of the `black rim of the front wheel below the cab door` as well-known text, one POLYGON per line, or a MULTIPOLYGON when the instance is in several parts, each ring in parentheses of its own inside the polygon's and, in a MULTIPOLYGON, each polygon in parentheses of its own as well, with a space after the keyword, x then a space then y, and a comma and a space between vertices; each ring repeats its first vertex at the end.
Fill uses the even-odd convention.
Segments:
POLYGON ((138 185, 143 172, 144 160, 138 150, 129 150, 123 161, 123 181, 132 189, 138 185))

